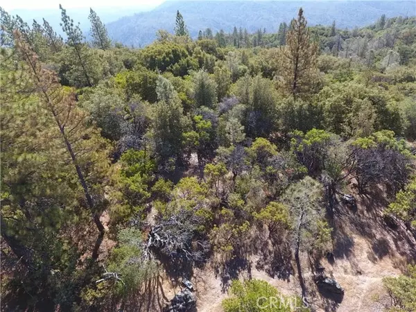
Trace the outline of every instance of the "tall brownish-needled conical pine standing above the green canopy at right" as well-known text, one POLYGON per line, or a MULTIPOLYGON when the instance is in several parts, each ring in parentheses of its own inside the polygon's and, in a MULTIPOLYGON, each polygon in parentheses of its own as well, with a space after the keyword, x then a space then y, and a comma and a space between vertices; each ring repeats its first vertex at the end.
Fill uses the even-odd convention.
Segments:
POLYGON ((297 19, 291 22, 286 37, 286 46, 282 49, 279 60, 284 89, 296 98, 299 94, 310 91, 311 74, 315 69, 318 45, 311 41, 306 19, 300 8, 297 19))

